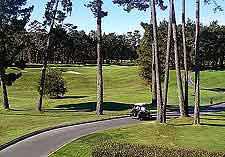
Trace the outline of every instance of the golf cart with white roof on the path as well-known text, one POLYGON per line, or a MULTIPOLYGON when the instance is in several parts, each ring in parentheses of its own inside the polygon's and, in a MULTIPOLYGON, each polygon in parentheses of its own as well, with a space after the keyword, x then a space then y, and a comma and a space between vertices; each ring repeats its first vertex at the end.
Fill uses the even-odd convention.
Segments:
POLYGON ((148 105, 145 103, 134 104, 132 107, 132 110, 130 112, 130 116, 133 119, 138 119, 138 120, 150 120, 151 119, 150 110, 148 108, 148 105))

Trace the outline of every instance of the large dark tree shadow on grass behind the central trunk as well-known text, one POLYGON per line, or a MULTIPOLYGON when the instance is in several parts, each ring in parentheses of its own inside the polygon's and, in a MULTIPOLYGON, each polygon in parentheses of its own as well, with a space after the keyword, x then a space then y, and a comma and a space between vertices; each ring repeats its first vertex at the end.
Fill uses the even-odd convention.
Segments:
MULTIPOLYGON (((130 109, 130 107, 131 107, 130 104, 116 103, 116 102, 104 102, 103 105, 103 109, 105 111, 125 111, 130 109)), ((96 102, 58 105, 54 109, 50 110, 92 112, 96 110, 96 102)))

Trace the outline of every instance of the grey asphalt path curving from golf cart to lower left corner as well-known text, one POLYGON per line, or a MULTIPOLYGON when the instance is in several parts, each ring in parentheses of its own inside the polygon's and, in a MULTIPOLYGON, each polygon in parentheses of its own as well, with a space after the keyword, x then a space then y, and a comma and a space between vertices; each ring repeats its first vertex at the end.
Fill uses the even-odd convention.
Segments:
POLYGON ((0 157, 47 157, 57 148, 81 136, 137 123, 140 123, 140 121, 128 117, 55 129, 27 138, 3 149, 0 151, 0 157))

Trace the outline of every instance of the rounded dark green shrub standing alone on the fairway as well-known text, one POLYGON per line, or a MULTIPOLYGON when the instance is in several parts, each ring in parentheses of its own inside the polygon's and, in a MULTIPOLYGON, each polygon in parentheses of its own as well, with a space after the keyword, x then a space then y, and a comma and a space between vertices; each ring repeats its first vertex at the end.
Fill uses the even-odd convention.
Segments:
MULTIPOLYGON (((40 89, 41 80, 38 81, 38 91, 40 89)), ((60 98, 68 92, 65 87, 63 74, 59 69, 48 69, 46 72, 44 95, 50 98, 60 98)))

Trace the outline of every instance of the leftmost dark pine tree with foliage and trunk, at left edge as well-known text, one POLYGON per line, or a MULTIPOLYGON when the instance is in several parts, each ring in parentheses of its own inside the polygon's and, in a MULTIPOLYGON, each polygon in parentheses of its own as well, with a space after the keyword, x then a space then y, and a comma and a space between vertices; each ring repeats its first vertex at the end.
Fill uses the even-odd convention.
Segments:
POLYGON ((12 65, 24 67, 21 50, 21 34, 29 22, 32 7, 25 7, 27 0, 0 1, 0 79, 3 95, 3 107, 9 109, 7 85, 19 78, 15 73, 6 74, 6 69, 12 65))

